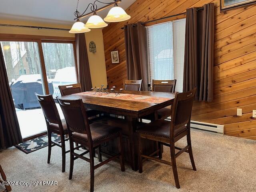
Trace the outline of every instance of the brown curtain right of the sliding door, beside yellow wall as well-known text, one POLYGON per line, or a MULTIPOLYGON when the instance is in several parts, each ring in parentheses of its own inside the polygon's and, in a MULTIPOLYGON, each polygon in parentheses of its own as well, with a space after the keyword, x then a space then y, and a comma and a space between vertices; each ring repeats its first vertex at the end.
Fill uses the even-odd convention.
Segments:
POLYGON ((78 82, 82 86, 82 91, 90 91, 92 88, 92 79, 84 33, 76 34, 76 60, 78 66, 78 82))

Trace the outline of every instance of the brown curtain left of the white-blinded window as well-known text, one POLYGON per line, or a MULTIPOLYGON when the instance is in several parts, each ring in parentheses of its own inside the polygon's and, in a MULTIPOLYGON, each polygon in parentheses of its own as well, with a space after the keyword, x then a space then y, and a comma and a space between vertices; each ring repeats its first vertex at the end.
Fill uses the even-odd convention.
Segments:
POLYGON ((124 26, 127 78, 142 79, 142 90, 148 91, 146 30, 141 22, 137 26, 124 26))

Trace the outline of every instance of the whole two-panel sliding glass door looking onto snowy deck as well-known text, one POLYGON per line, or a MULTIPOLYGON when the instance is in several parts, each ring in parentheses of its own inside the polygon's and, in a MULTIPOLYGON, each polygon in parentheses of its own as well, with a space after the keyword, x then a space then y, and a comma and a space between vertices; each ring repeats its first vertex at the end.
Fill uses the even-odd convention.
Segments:
MULTIPOLYGON (((59 85, 77 82, 74 43, 56 40, 0 39, 22 138, 46 132, 34 93, 60 96, 59 85)), ((57 104, 60 117, 64 118, 57 104)))

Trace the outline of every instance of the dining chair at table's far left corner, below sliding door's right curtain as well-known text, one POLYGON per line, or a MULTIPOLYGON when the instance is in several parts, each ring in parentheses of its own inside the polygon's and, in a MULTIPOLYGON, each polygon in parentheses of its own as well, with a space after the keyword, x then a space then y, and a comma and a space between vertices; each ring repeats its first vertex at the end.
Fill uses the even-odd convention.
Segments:
MULTIPOLYGON (((70 85, 59 85, 59 89, 60 89, 61 96, 71 95, 71 94, 82 92, 82 87, 81 87, 80 83, 70 84, 70 85)), ((92 110, 92 109, 88 109, 88 108, 86 109, 86 113, 87 113, 88 117, 94 117, 96 115, 101 114, 100 111, 92 110)))

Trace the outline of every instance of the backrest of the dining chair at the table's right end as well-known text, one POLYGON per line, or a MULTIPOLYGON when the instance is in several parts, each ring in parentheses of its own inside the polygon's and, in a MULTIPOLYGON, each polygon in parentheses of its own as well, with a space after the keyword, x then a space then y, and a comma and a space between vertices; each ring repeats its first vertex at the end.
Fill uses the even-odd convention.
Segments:
POLYGON ((170 138, 174 137, 174 130, 187 124, 190 127, 190 118, 196 88, 184 93, 177 93, 172 105, 170 138))

